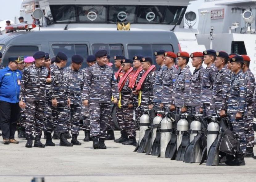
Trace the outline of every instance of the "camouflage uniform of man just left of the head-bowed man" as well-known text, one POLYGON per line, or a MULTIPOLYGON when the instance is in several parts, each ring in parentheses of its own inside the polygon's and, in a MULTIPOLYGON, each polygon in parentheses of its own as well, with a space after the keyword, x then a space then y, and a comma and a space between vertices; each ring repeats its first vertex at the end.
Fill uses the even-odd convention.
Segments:
POLYGON ((64 68, 59 68, 56 63, 53 63, 51 69, 51 90, 48 95, 51 99, 57 99, 57 106, 52 106, 52 115, 54 123, 57 123, 59 134, 68 132, 68 98, 70 98, 70 91, 68 89, 67 74, 64 68))

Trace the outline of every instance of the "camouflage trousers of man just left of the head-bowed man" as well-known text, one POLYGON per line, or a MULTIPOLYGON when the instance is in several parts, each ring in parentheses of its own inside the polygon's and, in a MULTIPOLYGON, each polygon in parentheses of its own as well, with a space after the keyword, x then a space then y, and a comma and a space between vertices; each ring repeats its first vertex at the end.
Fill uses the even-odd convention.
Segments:
POLYGON ((56 127, 59 131, 59 134, 67 133, 67 122, 69 120, 67 104, 58 103, 57 107, 52 106, 52 115, 56 116, 53 117, 53 122, 56 123, 56 127))

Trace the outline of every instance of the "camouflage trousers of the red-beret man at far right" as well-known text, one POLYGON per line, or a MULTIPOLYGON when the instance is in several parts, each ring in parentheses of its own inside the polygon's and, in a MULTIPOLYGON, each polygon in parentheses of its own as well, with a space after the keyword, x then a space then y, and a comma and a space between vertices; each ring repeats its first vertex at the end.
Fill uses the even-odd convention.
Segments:
POLYGON ((254 103, 249 103, 247 105, 248 114, 245 120, 245 137, 246 137, 246 147, 254 147, 254 130, 253 130, 253 109, 254 103))

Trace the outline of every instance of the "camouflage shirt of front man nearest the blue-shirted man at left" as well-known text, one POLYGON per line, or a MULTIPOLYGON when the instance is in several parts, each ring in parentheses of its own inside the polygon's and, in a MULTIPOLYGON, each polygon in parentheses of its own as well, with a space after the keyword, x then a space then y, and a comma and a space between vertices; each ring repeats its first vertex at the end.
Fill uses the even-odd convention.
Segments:
POLYGON ((46 102, 46 90, 50 84, 46 83, 48 69, 36 67, 35 64, 24 69, 19 100, 23 102, 40 101, 46 102))

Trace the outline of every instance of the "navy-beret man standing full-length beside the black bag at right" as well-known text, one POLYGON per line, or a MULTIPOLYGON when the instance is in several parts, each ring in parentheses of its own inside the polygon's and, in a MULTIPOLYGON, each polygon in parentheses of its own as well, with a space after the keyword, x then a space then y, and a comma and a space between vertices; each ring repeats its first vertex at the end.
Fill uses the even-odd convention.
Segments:
POLYGON ((246 108, 246 91, 247 80, 242 71, 243 57, 234 56, 230 60, 232 66, 231 71, 234 72, 230 83, 230 92, 228 99, 228 113, 230 115, 230 122, 232 125, 231 130, 236 135, 238 141, 240 141, 240 152, 234 160, 228 160, 225 162, 227 165, 245 165, 243 153, 246 152, 246 137, 245 137, 245 123, 244 117, 247 115, 246 108))

